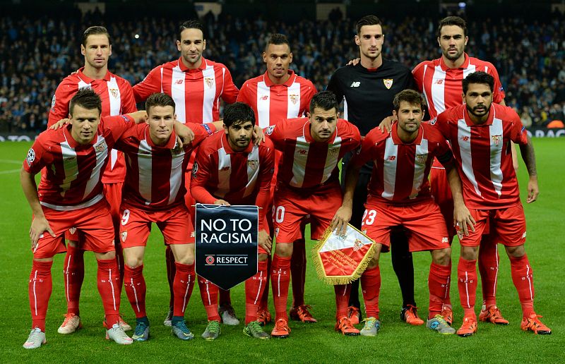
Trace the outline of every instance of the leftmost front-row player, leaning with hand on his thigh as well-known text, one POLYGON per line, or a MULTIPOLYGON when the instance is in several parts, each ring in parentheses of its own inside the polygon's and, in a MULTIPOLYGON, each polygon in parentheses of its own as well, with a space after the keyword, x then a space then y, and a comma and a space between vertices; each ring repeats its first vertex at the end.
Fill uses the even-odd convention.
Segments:
POLYGON ((108 328, 106 338, 118 344, 132 342, 119 324, 114 228, 109 205, 102 195, 101 179, 114 142, 134 121, 145 121, 145 112, 102 120, 101 112, 100 97, 93 90, 80 90, 70 102, 71 125, 41 133, 23 163, 20 181, 34 216, 30 228, 33 265, 29 285, 32 330, 24 348, 45 344, 53 256, 66 250, 64 233, 73 227, 83 233, 81 248, 93 251, 97 259, 97 285, 108 328), (35 174, 44 168, 38 190, 35 174))

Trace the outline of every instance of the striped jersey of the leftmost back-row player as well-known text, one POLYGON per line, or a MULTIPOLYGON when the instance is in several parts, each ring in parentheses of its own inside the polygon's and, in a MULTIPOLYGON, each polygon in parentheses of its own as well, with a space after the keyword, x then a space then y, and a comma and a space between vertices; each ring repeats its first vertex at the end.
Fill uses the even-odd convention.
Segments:
MULTIPOLYGON (((127 80, 114 73, 107 72, 102 80, 93 80, 83 73, 84 67, 79 68, 73 75, 68 75, 59 83, 51 101, 47 127, 61 119, 69 117, 69 103, 73 96, 82 88, 94 90, 102 99, 101 116, 117 116, 137 111, 133 90, 127 80)), ((124 181, 126 166, 124 156, 117 150, 112 150, 110 161, 102 176, 102 183, 119 183, 124 181)))

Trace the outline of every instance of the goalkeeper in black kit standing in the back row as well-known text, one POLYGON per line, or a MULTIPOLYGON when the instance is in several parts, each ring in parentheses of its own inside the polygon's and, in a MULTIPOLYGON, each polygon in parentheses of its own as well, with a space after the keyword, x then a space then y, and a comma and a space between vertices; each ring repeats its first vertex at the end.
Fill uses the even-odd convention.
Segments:
MULTIPOLYGON (((328 83, 328 90, 335 93, 338 100, 343 98, 343 118, 354 123, 361 135, 369 133, 381 120, 391 114, 394 95, 401 90, 416 88, 408 68, 401 63, 383 59, 382 26, 381 20, 376 16, 364 16, 357 21, 355 44, 359 46, 361 61, 356 66, 338 68, 328 83)), ((351 157, 352 154, 345 154, 342 168, 344 171, 351 157)), ((367 184, 371 178, 371 169, 371 164, 361 169, 355 190, 351 224, 357 229, 361 229, 363 204, 367 200, 367 184)), ((400 254, 408 251, 408 241, 403 233, 393 233, 392 240, 395 242, 392 248, 393 268, 400 283, 403 308, 405 308, 403 313, 405 313, 408 308, 416 306, 414 270, 412 268, 412 271, 406 271, 405 267, 396 265, 397 252, 400 254)), ((411 260, 412 255, 409 258, 411 260)), ((354 324, 360 319, 358 287, 359 281, 354 281, 350 296, 350 318, 354 324)), ((424 323, 417 316, 413 318, 419 320, 420 324, 424 323)))

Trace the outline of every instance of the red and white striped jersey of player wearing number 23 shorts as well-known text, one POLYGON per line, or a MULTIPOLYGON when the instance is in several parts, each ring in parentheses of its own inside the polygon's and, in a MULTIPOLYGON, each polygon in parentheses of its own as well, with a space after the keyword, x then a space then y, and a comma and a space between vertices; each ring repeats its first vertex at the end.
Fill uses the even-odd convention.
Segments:
POLYGON ((397 128, 398 123, 393 123, 390 133, 371 130, 351 163, 363 166, 373 160, 368 186, 371 198, 398 205, 431 200, 428 176, 434 157, 443 164, 453 160, 447 140, 433 126, 422 123, 416 139, 405 143, 398 138, 397 128))

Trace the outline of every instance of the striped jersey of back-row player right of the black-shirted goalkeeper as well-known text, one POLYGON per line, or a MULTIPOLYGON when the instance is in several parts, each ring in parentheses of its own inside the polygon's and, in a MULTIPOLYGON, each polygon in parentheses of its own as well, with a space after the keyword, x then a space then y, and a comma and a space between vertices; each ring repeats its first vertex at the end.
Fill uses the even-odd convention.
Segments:
POLYGON ((446 109, 463 104, 463 78, 476 71, 484 71, 494 77, 493 102, 499 104, 504 99, 504 89, 499 73, 490 62, 481 61, 465 53, 465 61, 459 68, 448 68, 441 57, 424 61, 412 70, 418 90, 426 97, 430 119, 434 119, 446 109))

